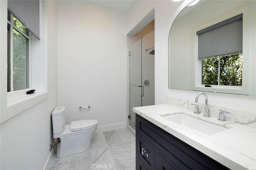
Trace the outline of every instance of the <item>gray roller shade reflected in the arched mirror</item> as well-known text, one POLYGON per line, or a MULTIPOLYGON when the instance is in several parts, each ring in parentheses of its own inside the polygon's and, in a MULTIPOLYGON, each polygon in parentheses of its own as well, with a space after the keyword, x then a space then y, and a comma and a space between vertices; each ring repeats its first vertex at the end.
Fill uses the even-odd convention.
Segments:
POLYGON ((242 14, 240 14, 196 32, 198 59, 242 52, 242 29, 242 14))

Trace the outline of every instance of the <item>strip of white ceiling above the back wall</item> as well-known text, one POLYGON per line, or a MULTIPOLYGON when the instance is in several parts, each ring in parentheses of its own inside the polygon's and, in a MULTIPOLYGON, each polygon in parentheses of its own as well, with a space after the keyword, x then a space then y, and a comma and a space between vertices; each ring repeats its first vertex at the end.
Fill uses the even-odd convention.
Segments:
POLYGON ((88 2, 127 12, 134 0, 88 0, 88 2))

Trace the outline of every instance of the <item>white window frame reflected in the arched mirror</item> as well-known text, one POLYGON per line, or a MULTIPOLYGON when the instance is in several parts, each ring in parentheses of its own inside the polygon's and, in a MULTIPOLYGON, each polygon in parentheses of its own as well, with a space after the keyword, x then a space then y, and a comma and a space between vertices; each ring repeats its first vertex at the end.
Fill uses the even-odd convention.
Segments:
POLYGON ((250 48, 250 7, 244 6, 238 10, 235 10, 229 14, 209 21, 204 25, 200 25, 192 31, 192 90, 206 91, 206 92, 220 92, 230 94, 249 94, 249 48, 250 48), (205 87, 202 84, 202 60, 198 59, 198 35, 197 31, 207 28, 221 21, 227 20, 239 14, 243 14, 243 72, 242 72, 242 86, 224 86, 224 85, 211 85, 212 87, 205 87))

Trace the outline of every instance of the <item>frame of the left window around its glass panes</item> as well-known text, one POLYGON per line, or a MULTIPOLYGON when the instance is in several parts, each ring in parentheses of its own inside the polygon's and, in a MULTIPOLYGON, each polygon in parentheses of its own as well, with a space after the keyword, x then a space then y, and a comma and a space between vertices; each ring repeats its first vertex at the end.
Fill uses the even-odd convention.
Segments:
MULTIPOLYGON (((8 82, 7 83, 10 83, 10 91, 8 92, 8 87, 7 87, 7 94, 8 94, 8 97, 9 98, 13 98, 15 96, 20 96, 22 94, 25 94, 28 90, 31 90, 31 86, 32 86, 32 33, 27 29, 27 34, 26 35, 25 33, 23 33, 20 29, 18 29, 14 24, 13 24, 13 14, 8 11, 8 13, 10 13, 10 21, 7 19, 7 24, 10 25, 10 37, 8 35, 7 38, 9 38, 9 43, 10 43, 10 49, 8 48, 7 50, 10 50, 9 51, 9 55, 8 57, 10 57, 9 59, 9 63, 8 65, 10 66, 10 70, 8 69, 8 74, 10 74, 8 77, 7 76, 7 79, 10 78, 10 80, 7 80, 8 82), (24 37, 26 37, 28 39, 28 42, 29 42, 29 45, 27 47, 27 71, 28 71, 28 75, 27 75, 27 78, 29 80, 29 83, 28 83, 28 88, 24 88, 24 89, 20 89, 20 90, 14 90, 14 84, 13 84, 13 29, 15 29, 16 31, 18 31, 20 34, 22 34, 24 37)), ((15 16, 14 16, 15 17, 15 16)), ((18 19, 17 19, 18 20, 18 19)), ((7 59, 8 60, 8 59, 7 59)))

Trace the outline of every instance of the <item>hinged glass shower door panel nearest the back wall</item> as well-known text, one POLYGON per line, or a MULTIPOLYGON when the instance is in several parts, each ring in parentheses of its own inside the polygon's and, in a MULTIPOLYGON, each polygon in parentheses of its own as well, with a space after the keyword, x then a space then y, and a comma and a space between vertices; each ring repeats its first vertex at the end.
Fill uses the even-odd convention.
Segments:
POLYGON ((135 113, 132 107, 142 106, 142 39, 129 47, 129 124, 135 129, 135 113))

